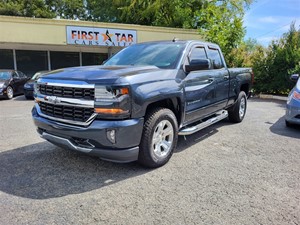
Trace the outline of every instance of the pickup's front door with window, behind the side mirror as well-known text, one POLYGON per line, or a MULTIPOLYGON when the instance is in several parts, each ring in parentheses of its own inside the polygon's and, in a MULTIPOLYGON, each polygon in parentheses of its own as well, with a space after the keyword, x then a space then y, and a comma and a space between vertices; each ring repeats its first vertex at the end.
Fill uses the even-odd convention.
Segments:
MULTIPOLYGON (((194 45, 188 53, 186 65, 192 65, 197 60, 207 60, 204 46, 194 45)), ((203 68, 191 72, 186 71, 185 89, 185 120, 184 123, 197 121, 214 112, 216 102, 214 70, 203 68)))

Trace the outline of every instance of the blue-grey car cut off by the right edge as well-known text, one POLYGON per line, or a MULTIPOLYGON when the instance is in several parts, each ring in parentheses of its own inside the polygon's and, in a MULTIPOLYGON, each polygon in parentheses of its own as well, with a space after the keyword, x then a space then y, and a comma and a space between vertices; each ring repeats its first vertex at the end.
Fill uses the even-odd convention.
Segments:
POLYGON ((299 74, 293 74, 291 80, 296 82, 291 90, 286 104, 285 124, 287 127, 293 124, 300 125, 300 79, 299 74))

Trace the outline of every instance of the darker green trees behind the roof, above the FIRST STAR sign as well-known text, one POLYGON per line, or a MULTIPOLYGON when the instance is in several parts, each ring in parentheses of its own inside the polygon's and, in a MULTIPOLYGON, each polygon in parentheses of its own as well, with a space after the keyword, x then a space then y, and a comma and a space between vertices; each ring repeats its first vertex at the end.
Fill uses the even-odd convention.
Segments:
POLYGON ((199 0, 87 0, 90 18, 102 22, 192 28, 199 0))

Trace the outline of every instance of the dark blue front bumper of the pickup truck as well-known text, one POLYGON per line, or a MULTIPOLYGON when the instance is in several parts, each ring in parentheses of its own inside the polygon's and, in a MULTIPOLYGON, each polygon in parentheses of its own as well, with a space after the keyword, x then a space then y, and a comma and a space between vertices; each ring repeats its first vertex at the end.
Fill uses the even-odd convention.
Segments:
POLYGON ((114 162, 132 162, 138 159, 143 118, 94 120, 88 127, 79 127, 45 119, 35 107, 32 109, 32 116, 41 137, 57 146, 114 162), (107 132, 112 129, 115 130, 115 143, 107 136, 107 132))

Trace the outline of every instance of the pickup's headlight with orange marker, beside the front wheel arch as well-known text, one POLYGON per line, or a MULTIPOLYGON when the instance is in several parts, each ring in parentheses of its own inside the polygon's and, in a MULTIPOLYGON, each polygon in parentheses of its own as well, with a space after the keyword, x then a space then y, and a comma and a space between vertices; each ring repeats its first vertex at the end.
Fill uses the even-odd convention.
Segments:
POLYGON ((130 115, 130 96, 128 87, 95 88, 95 112, 101 118, 126 118, 130 115))

